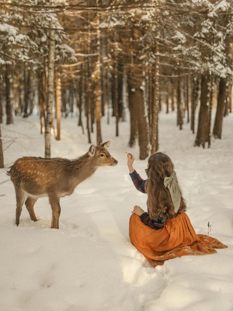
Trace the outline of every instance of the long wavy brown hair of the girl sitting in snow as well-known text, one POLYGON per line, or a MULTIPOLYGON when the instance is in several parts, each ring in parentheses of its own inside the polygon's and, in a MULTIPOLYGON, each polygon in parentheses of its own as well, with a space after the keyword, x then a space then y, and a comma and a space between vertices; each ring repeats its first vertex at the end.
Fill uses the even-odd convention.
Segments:
POLYGON ((176 215, 186 210, 186 203, 181 194, 180 206, 177 214, 168 188, 164 186, 164 177, 169 177, 174 170, 174 165, 169 156, 157 152, 148 158, 146 174, 146 192, 148 195, 147 206, 150 218, 175 218, 176 215))

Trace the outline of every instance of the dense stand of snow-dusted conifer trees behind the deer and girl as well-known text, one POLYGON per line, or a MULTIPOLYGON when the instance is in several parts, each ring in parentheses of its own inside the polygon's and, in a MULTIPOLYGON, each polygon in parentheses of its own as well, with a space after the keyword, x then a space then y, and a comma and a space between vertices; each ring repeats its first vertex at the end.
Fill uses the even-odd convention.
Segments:
POLYGON ((116 136, 130 123, 128 144, 145 159, 159 148, 161 110, 210 148, 232 113, 232 84, 232 0, 0 2, 0 123, 36 111, 45 157, 62 119, 99 145, 107 116, 116 136))

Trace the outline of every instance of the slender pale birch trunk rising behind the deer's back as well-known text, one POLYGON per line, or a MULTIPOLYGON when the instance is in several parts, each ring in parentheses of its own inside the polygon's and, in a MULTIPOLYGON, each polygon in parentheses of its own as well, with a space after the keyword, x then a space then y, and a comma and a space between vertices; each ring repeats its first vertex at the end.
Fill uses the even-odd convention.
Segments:
POLYGON ((51 127, 53 123, 54 101, 54 62, 55 62, 55 30, 53 20, 49 31, 49 58, 48 58, 48 84, 47 84, 47 115, 45 121, 45 157, 51 157, 51 127))

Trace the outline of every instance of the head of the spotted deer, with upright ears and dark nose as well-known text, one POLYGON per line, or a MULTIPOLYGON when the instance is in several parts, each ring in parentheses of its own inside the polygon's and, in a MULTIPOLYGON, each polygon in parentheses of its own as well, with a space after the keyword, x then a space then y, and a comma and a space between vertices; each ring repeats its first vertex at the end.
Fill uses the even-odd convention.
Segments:
POLYGON ((115 166, 117 160, 110 155, 108 147, 110 146, 110 140, 99 146, 91 145, 88 151, 88 155, 92 157, 96 166, 115 166))

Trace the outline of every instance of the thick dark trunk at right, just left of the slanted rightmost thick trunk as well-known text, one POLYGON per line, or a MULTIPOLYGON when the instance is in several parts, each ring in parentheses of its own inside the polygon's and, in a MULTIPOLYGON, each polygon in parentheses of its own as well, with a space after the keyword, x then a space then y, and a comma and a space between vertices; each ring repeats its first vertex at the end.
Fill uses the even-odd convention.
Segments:
POLYGON ((201 78, 201 98, 200 98, 200 111, 198 120, 198 132, 195 140, 195 146, 205 147, 205 142, 208 142, 208 82, 209 78, 204 74, 201 78))

